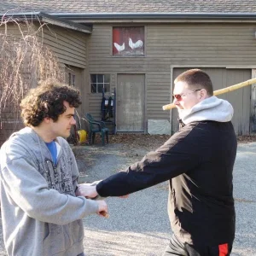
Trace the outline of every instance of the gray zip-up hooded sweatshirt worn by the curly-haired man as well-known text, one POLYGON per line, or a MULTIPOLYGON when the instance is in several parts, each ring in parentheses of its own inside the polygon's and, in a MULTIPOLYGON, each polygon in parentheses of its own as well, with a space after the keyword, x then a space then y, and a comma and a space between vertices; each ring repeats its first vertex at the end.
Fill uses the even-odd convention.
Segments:
POLYGON ((96 201, 75 196, 79 170, 65 139, 54 166, 44 141, 29 127, 1 148, 0 195, 8 255, 77 256, 84 252, 82 218, 96 201))

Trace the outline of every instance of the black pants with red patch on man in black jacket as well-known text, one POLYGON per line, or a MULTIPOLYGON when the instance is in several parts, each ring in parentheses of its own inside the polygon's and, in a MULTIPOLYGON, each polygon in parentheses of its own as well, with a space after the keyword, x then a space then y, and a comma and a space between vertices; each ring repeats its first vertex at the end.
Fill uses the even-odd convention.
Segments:
POLYGON ((169 245, 166 247, 166 252, 163 256, 229 256, 232 250, 232 244, 216 245, 211 247, 196 248, 183 243, 177 239, 177 236, 172 235, 169 245))

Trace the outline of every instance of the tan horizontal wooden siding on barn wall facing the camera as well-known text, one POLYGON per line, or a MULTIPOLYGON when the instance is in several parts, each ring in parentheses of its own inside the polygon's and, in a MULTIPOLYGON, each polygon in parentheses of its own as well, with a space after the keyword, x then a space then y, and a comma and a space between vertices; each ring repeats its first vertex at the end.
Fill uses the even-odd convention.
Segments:
MULTIPOLYGON (((253 24, 137 24, 145 26, 145 56, 127 57, 112 55, 112 26, 120 24, 94 25, 88 41, 88 73, 145 73, 146 121, 170 119, 162 106, 172 95, 171 66, 256 66, 253 24)), ((101 98, 89 94, 91 113, 100 110, 101 98)))

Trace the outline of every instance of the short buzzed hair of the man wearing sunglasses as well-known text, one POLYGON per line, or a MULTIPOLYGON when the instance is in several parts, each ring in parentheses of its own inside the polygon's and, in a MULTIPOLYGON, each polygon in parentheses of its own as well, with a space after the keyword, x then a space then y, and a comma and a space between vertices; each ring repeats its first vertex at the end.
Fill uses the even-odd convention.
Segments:
POLYGON ((213 95, 212 81, 209 75, 201 69, 189 69, 184 73, 181 73, 174 80, 174 84, 177 82, 186 82, 190 88, 207 90, 207 95, 213 95))

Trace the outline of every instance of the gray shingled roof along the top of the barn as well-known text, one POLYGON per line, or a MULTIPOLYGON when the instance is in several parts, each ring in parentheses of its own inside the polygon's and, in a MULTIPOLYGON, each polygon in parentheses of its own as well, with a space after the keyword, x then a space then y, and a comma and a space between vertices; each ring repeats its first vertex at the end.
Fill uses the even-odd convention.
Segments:
POLYGON ((0 13, 256 13, 256 0, 0 0, 0 13))

